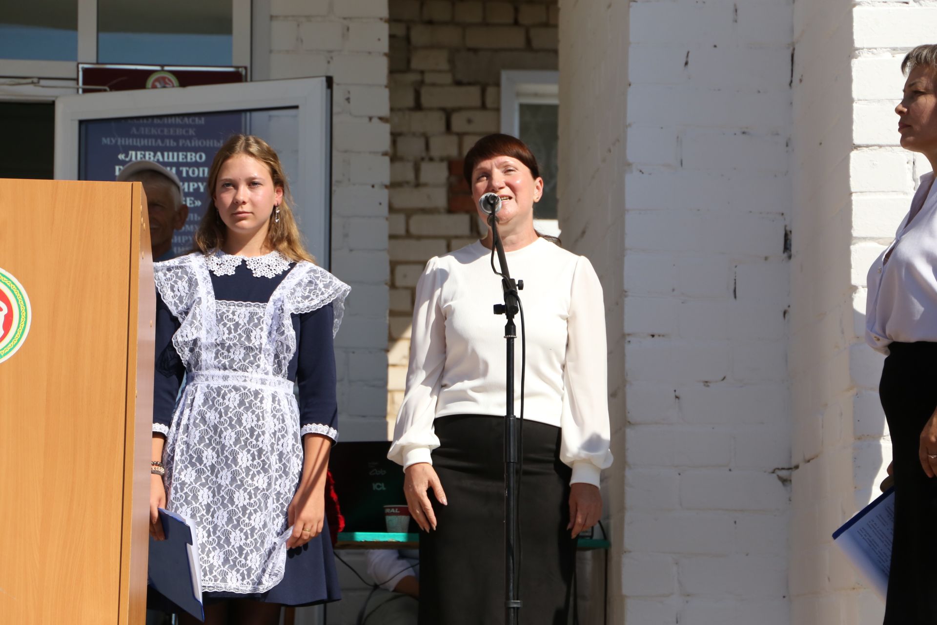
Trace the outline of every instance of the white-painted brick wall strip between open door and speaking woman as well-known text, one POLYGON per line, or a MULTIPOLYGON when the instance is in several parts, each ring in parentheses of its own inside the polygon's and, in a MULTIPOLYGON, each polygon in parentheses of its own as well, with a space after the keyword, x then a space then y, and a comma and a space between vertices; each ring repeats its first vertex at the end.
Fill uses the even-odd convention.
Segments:
POLYGON ((386 0, 273 0, 272 79, 333 76, 332 271, 351 285, 335 338, 343 439, 381 439, 391 148, 386 0))

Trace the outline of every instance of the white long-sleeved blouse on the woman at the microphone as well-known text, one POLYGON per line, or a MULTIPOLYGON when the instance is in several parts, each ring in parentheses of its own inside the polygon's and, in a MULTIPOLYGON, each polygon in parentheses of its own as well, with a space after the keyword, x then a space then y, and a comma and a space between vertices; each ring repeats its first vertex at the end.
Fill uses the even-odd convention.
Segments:
MULTIPOLYGON (((432 462, 433 421, 451 414, 507 413, 501 280, 491 250, 473 243, 430 259, 416 288, 407 392, 388 457, 405 468, 432 462)), ((561 428, 560 459, 571 484, 599 485, 609 452, 607 352, 602 285, 589 261, 544 239, 507 253, 527 330, 524 418, 561 428)), ((498 260, 495 260, 498 266, 498 260)), ((520 415, 520 316, 514 413, 520 415)))

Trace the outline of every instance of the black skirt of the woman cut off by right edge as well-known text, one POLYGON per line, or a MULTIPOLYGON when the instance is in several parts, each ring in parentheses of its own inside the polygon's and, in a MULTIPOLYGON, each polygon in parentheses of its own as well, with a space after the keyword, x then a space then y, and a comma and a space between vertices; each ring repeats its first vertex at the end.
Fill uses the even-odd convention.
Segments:
POLYGON ((937 625, 937 478, 918 458, 921 430, 937 409, 937 343, 889 349, 879 385, 895 462, 885 625, 937 625))

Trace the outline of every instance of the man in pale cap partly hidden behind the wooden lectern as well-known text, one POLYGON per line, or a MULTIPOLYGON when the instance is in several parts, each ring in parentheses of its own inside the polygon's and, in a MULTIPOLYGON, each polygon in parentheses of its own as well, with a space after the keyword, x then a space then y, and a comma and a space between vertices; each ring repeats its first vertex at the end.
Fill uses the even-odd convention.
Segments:
POLYGON ((117 174, 117 182, 140 182, 146 193, 150 214, 150 245, 153 261, 170 260, 172 233, 186 225, 188 206, 183 201, 182 183, 176 174, 152 160, 136 160, 117 174))

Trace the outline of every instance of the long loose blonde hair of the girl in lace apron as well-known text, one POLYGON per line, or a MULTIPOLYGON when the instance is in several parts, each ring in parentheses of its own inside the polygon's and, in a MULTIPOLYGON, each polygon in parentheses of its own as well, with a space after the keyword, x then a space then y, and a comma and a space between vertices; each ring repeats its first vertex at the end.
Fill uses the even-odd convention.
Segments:
POLYGON ((208 171, 208 206, 205 214, 201 216, 199 231, 195 233, 195 250, 202 254, 211 254, 224 245, 225 235, 228 228, 218 215, 218 209, 215 205, 215 186, 218 182, 218 172, 221 166, 228 161, 231 156, 244 154, 256 158, 267 166, 270 170, 270 177, 274 181, 274 186, 283 189, 283 200, 279 205, 279 221, 276 221, 276 211, 270 214, 270 223, 267 228, 267 240, 265 245, 271 251, 277 251, 290 260, 308 260, 315 262, 303 246, 303 236, 296 225, 296 219, 290 210, 292 197, 290 196, 290 184, 287 182, 286 173, 283 172, 283 166, 280 165, 279 156, 276 156, 274 148, 270 147, 267 141, 254 135, 232 135, 224 145, 218 148, 215 160, 212 161, 212 169, 208 171))

